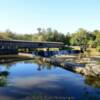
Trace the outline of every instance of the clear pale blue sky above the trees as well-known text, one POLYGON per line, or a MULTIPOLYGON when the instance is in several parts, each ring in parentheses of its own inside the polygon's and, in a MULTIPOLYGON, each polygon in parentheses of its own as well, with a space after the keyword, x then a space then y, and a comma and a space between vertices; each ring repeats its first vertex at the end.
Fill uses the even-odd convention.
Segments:
POLYGON ((35 33, 38 27, 100 29, 100 0, 0 0, 0 31, 35 33))

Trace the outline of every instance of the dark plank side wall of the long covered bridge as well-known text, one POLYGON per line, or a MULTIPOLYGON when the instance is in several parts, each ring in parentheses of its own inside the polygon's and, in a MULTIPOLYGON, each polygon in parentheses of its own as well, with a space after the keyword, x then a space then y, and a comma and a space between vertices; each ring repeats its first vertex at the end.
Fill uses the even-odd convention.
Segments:
POLYGON ((1 48, 60 48, 63 46, 61 42, 26 42, 26 41, 8 41, 0 40, 1 48))

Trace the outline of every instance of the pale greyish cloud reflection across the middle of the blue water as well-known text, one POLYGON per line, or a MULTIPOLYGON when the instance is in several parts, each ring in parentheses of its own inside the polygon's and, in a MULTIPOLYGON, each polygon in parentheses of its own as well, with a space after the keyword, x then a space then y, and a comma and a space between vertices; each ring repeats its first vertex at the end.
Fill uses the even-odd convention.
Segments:
POLYGON ((19 77, 11 80, 13 86, 20 88, 60 88, 57 83, 59 80, 58 76, 49 75, 47 77, 39 76, 39 77, 19 77))

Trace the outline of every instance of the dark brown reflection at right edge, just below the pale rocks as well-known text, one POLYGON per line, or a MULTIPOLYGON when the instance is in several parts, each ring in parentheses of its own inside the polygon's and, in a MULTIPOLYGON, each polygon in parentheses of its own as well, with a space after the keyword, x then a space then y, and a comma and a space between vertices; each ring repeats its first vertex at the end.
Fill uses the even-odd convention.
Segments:
POLYGON ((85 83, 95 88, 100 88, 100 78, 98 77, 86 76, 85 83))

